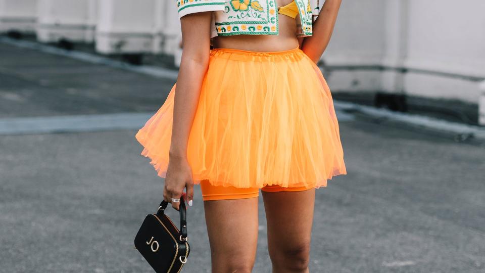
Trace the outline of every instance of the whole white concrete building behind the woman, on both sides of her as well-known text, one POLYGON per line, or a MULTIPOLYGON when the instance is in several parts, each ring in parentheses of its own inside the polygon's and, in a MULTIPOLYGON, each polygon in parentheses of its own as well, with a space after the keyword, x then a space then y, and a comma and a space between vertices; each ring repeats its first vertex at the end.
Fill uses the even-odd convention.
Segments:
MULTIPOLYGON (((343 1, 321 62, 332 92, 443 99, 485 109, 479 84, 485 79, 484 10, 483 0, 343 1)), ((102 54, 180 58, 173 1, 0 0, 0 30, 31 31, 35 21, 40 41, 95 39, 102 54)))

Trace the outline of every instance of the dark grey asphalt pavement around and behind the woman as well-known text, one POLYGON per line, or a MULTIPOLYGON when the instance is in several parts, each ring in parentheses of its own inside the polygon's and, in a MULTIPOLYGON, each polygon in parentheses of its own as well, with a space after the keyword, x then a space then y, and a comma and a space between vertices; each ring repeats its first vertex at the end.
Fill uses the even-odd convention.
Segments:
MULTIPOLYGON (((155 112, 173 83, 0 43, 0 121, 155 112)), ((348 174, 317 190, 310 271, 485 271, 485 143, 337 115, 348 174)), ((152 272, 133 239, 163 179, 133 126, 0 135, 0 272, 152 272)), ((183 272, 210 272, 195 191, 183 272)), ((271 272, 259 204, 253 272, 271 272)))

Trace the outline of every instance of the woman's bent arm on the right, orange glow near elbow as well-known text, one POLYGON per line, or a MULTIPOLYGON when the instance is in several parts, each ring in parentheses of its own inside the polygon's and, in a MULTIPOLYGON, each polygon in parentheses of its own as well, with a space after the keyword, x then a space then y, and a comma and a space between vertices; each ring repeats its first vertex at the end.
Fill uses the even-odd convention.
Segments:
POLYGON ((342 0, 325 0, 318 13, 317 20, 313 22, 312 36, 305 37, 303 40, 302 51, 315 63, 320 60, 327 48, 341 3, 342 0))

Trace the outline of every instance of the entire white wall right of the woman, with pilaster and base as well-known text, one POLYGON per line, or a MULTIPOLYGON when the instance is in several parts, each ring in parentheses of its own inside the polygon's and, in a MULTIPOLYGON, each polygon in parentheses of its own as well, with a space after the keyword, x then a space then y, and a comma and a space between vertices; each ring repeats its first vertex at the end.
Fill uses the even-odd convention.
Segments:
POLYGON ((478 80, 485 78, 483 11, 483 0, 344 1, 323 55, 332 91, 478 103, 478 80))

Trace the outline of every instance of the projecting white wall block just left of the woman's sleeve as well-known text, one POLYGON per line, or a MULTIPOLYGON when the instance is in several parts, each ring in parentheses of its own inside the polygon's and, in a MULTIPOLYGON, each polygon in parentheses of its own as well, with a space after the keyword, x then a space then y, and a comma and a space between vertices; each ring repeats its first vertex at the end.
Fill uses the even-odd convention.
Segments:
POLYGON ((96 50, 104 54, 174 54, 180 40, 174 3, 105 0, 99 5, 96 50))

